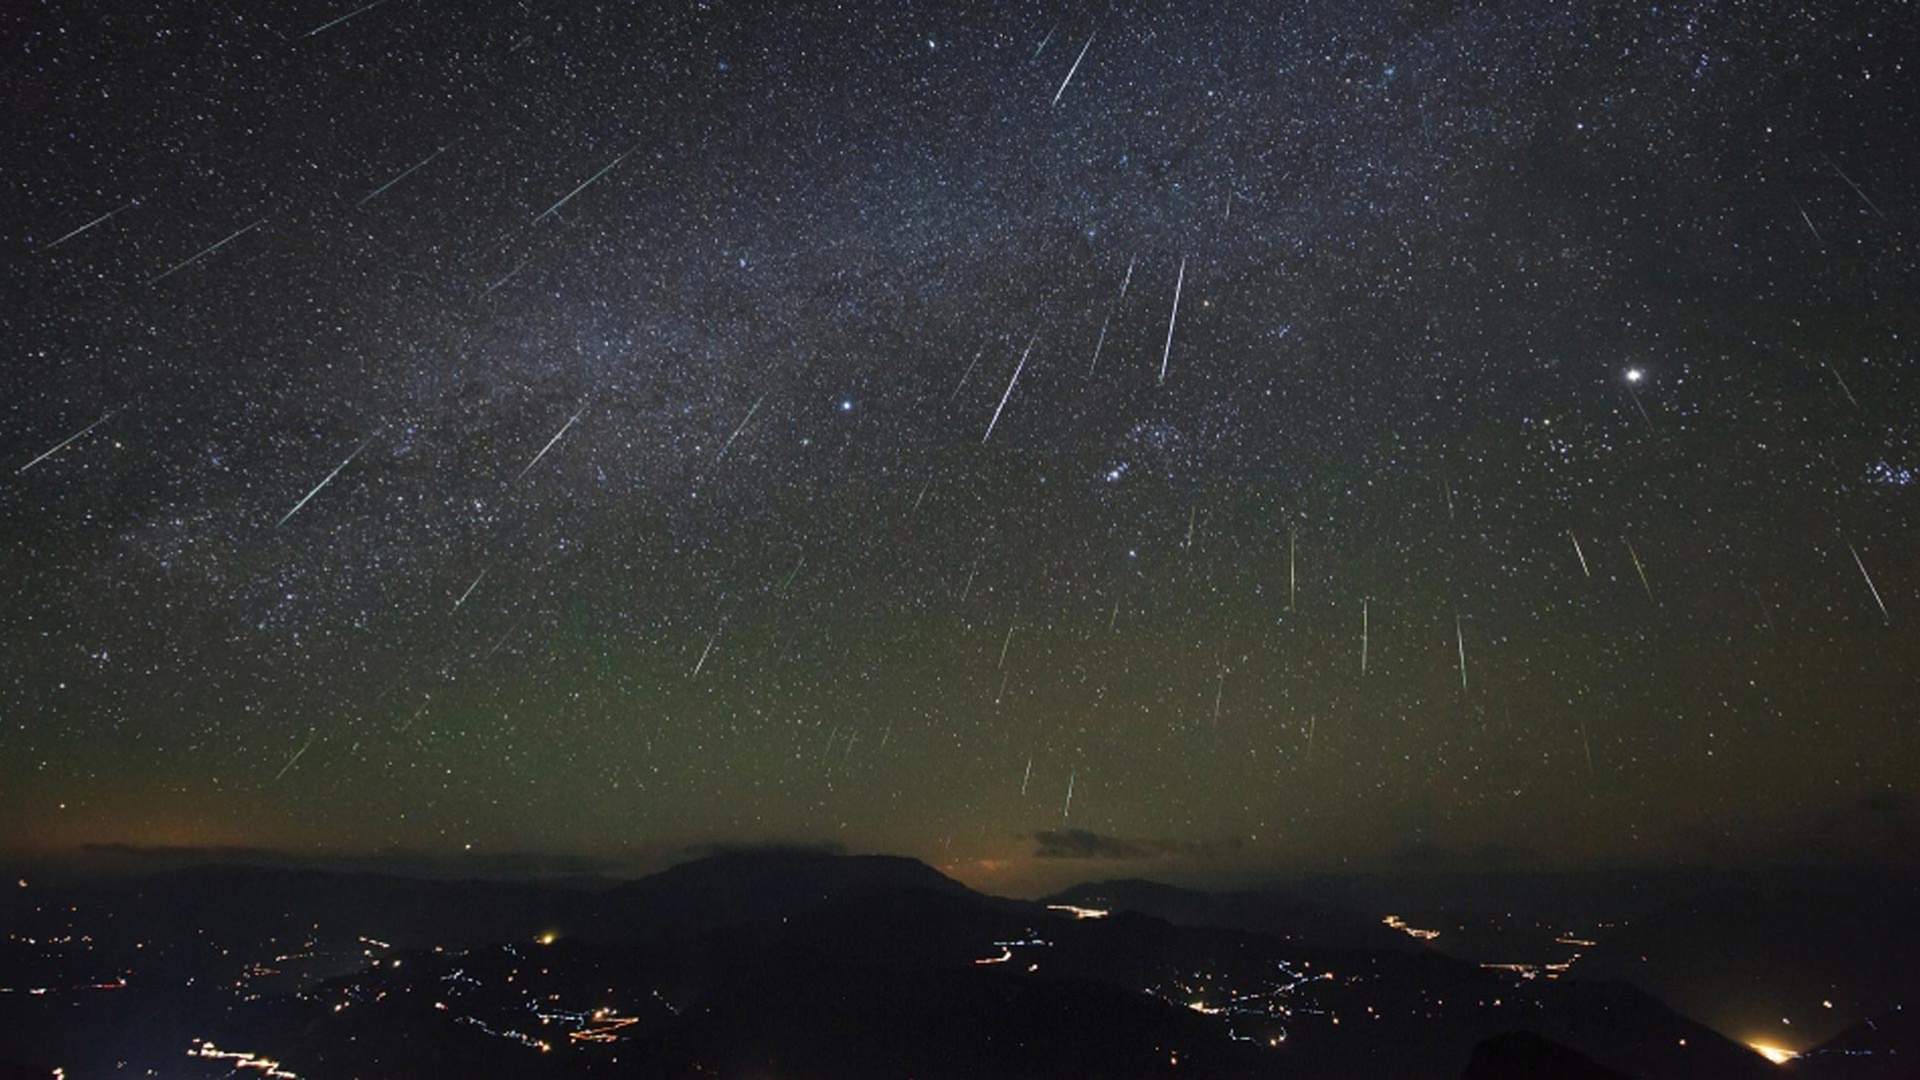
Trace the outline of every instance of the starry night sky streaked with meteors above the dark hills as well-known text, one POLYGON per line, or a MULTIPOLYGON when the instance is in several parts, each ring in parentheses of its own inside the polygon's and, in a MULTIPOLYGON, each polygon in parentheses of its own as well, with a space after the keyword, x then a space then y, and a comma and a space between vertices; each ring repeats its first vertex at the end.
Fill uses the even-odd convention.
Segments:
POLYGON ((1905 4, 10 21, 12 847, 1920 849, 1905 4))

